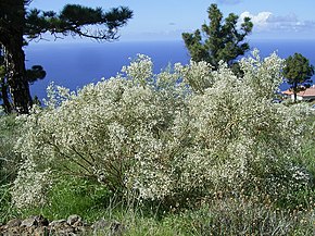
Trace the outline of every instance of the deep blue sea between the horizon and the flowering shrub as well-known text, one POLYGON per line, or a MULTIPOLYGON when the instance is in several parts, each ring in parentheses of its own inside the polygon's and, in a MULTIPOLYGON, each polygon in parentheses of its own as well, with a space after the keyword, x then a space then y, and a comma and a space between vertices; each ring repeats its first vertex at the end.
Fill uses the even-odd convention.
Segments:
MULTIPOLYGON (((281 58, 302 53, 315 65, 314 40, 250 40, 251 49, 257 48, 262 57, 274 51, 281 58)), ((169 63, 187 64, 190 60, 184 41, 128 41, 128 42, 32 42, 25 49, 26 66, 40 64, 47 76, 30 86, 32 95, 46 97, 46 88, 54 82, 75 90, 88 83, 115 76, 137 53, 149 55, 159 73, 169 63)), ((313 77, 315 80, 315 77, 313 77)), ((281 89, 288 86, 282 85, 281 89)))

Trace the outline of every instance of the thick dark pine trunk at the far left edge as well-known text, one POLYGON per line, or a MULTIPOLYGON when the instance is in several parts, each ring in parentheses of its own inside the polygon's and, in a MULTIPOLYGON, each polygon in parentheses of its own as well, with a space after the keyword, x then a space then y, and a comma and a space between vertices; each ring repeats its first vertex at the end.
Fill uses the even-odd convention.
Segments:
POLYGON ((12 97, 13 109, 20 113, 28 113, 32 105, 29 85, 26 79, 23 35, 25 27, 24 0, 1 0, 0 9, 0 44, 4 48, 4 65, 7 83, 12 97))

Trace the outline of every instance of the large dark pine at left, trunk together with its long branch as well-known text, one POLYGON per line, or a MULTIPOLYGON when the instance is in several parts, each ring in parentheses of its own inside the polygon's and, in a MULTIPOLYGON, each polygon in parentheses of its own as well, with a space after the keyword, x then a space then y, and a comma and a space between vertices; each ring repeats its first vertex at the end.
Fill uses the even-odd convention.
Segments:
POLYGON ((0 45, 3 47, 13 109, 17 113, 28 113, 32 105, 23 50, 26 40, 40 39, 43 34, 50 33, 56 38, 71 35, 111 41, 118 38, 117 29, 133 16, 133 12, 124 7, 104 12, 101 8, 66 4, 58 14, 53 11, 28 10, 30 2, 0 1, 0 45))

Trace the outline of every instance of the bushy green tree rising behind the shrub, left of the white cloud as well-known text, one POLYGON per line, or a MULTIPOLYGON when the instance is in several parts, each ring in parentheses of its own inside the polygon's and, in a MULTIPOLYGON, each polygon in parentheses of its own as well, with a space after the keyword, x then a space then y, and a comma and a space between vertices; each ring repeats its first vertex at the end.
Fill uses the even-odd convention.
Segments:
POLYGON ((249 44, 243 41, 251 33, 253 23, 245 17, 238 28, 239 16, 230 13, 223 21, 223 13, 216 4, 211 4, 207 14, 209 25, 203 24, 201 30, 197 29, 193 34, 182 34, 185 45, 193 61, 206 61, 215 70, 220 60, 232 66, 235 59, 250 49, 249 44), (203 35, 205 38, 202 37, 203 35))

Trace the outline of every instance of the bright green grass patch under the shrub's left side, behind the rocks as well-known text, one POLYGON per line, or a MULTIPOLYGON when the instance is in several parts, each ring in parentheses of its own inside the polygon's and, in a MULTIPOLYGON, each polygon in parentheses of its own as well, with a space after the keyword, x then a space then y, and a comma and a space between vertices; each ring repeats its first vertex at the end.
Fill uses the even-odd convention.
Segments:
POLYGON ((21 211, 22 216, 42 214, 50 220, 66 219, 79 214, 92 222, 111 204, 109 192, 100 185, 73 177, 60 178, 49 190, 46 204, 21 211))

